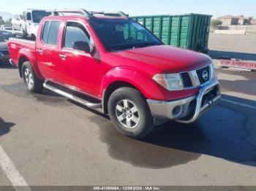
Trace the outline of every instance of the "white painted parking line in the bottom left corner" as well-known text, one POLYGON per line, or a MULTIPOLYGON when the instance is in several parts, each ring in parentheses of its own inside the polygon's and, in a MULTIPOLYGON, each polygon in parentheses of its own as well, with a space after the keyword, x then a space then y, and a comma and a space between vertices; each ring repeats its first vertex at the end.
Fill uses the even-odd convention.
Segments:
POLYGON ((29 185, 26 183, 25 179, 23 179, 23 176, 20 175, 14 163, 12 163, 12 160, 10 159, 10 157, 8 157, 7 153, 4 151, 1 145, 0 166, 4 173, 7 175, 8 179, 10 179, 10 182, 12 182, 12 186, 15 187, 15 190, 31 191, 29 185))

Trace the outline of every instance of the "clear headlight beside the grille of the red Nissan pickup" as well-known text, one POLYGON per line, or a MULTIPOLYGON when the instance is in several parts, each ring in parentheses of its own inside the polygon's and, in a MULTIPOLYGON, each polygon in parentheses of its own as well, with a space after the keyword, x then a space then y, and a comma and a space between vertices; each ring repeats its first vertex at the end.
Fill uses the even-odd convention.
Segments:
POLYGON ((157 74, 154 81, 165 87, 167 90, 184 90, 180 74, 157 74))

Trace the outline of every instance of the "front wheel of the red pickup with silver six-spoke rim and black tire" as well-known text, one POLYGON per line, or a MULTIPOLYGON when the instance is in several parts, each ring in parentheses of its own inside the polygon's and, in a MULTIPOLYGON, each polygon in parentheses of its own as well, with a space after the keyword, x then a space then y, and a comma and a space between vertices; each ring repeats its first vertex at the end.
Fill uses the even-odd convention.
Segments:
POLYGON ((131 87, 121 87, 110 95, 108 113, 117 130, 133 139, 141 139, 154 130, 148 104, 131 87))

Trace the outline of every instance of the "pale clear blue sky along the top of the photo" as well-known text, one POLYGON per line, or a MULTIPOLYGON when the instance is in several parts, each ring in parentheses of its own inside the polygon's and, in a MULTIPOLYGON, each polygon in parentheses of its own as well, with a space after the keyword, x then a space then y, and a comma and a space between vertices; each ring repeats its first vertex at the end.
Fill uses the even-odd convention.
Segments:
POLYGON ((7 0, 0 11, 13 14, 26 8, 83 8, 88 10, 121 10, 129 15, 162 15, 201 13, 207 15, 245 15, 256 17, 256 0, 7 0))

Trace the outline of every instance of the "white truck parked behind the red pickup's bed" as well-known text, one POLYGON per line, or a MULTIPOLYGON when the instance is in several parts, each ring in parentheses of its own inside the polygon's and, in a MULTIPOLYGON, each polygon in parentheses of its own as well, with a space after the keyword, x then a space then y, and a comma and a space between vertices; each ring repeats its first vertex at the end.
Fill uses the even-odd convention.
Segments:
POLYGON ((39 23, 43 17, 48 15, 50 12, 46 10, 26 9, 22 15, 12 18, 12 34, 36 39, 39 23))

